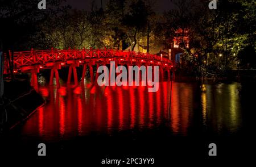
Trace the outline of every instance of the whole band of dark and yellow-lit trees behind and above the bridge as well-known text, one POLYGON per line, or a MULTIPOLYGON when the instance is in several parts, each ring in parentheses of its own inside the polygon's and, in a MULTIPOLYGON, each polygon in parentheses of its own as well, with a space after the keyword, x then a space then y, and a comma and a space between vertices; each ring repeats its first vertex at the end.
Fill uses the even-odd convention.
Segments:
POLYGON ((136 45, 150 53, 171 47, 177 28, 189 28, 189 48, 181 69, 214 76, 229 69, 256 68, 255 1, 170 0, 172 10, 156 12, 154 0, 109 0, 104 8, 92 1, 90 11, 48 0, 38 10, 32 0, 0 0, 0 42, 4 51, 54 48, 126 49, 136 45))

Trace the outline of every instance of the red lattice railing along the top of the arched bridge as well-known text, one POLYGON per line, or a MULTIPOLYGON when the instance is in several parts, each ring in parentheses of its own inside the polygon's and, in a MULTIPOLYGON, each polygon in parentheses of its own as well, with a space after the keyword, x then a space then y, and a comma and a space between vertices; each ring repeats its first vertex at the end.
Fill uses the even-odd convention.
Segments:
MULTIPOLYGON (((68 60, 86 60, 101 58, 122 58, 124 60, 150 60, 158 61, 159 64, 172 64, 171 60, 134 51, 119 51, 114 49, 51 49, 51 50, 34 50, 14 52, 14 68, 20 66, 46 64, 47 62, 68 61, 68 60)), ((7 61, 7 59, 5 59, 7 61)), ((7 67, 8 68, 8 67, 7 67)))

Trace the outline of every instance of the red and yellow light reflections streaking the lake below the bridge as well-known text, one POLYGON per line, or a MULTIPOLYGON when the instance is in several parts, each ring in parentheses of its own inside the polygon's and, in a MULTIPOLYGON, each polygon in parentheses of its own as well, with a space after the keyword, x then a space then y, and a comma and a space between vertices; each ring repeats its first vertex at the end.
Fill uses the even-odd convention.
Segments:
POLYGON ((167 128, 172 135, 233 133, 242 126, 236 83, 205 85, 201 92, 194 83, 172 85, 160 82, 159 91, 147 87, 39 87, 47 103, 23 126, 22 135, 42 140, 72 139, 90 134, 112 135, 121 131, 167 128))

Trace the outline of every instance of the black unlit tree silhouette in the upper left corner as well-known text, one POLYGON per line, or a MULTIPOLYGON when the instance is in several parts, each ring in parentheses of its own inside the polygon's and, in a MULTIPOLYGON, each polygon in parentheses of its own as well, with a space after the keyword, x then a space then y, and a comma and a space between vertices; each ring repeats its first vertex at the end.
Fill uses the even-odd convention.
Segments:
POLYGON ((13 51, 29 48, 25 41, 30 41, 31 35, 35 34, 38 30, 36 25, 48 18, 48 15, 53 14, 56 10, 51 6, 59 6, 61 0, 48 1, 47 10, 39 10, 38 2, 33 0, 1 0, 0 1, 0 45, 3 52, 7 55, 10 65, 11 76, 13 74, 13 51), (9 55, 9 50, 12 55, 9 55))

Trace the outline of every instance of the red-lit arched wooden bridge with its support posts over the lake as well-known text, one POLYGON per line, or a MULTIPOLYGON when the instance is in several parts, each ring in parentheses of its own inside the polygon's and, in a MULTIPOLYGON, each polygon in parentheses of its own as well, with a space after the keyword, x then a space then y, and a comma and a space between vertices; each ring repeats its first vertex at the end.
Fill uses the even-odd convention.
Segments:
MULTIPOLYGON (((11 55, 11 52, 9 53, 11 55)), ((13 64, 14 73, 31 73, 31 85, 37 87, 37 73, 40 69, 51 69, 50 85, 53 84, 53 77, 56 78, 56 86, 60 87, 59 72, 63 66, 69 66, 68 84, 73 78, 75 84, 78 84, 76 67, 83 66, 82 81, 84 81, 87 66, 89 66, 90 78, 95 81, 98 73, 94 76, 93 65, 106 65, 110 61, 120 65, 151 65, 159 66, 160 78, 163 78, 164 71, 167 71, 170 78, 170 70, 172 68, 171 60, 151 55, 148 53, 119 51, 113 49, 51 49, 51 50, 34 50, 14 52, 13 59, 8 61, 5 59, 5 73, 10 73, 10 64, 13 64)))

